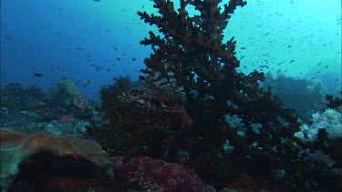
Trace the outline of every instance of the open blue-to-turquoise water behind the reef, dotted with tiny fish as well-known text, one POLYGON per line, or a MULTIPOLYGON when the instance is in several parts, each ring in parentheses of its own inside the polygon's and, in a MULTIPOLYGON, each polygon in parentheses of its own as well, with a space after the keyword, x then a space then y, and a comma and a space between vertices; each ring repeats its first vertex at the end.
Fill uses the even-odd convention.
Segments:
MULTIPOLYGON (((98 98, 113 77, 137 78, 151 53, 140 40, 157 31, 137 11, 156 12, 147 0, 1 1, 1 86, 47 89, 68 78, 80 93, 98 98)), ((245 73, 280 69, 315 78, 332 94, 341 85, 340 0, 249 0, 224 35, 237 40, 245 73)))

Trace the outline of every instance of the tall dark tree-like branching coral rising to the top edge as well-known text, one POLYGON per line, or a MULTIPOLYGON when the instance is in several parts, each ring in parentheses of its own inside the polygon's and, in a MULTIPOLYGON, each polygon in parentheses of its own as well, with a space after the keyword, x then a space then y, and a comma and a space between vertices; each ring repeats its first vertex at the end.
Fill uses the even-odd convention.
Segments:
POLYGON ((317 184, 328 187, 325 181, 315 177, 312 167, 317 165, 307 162, 306 155, 301 153, 298 145, 304 147, 304 144, 294 136, 300 127, 294 110, 272 96, 271 87, 267 90, 259 87, 263 73, 237 72, 240 64, 234 56, 235 41, 232 37, 223 42, 223 30, 231 15, 246 2, 230 0, 220 6, 221 0, 181 0, 177 10, 170 0, 153 2, 158 15, 138 12, 145 23, 156 25, 161 34, 150 31, 150 37, 140 42, 153 50, 144 60, 147 69, 142 72, 148 78, 154 73, 160 79, 171 73, 172 86, 181 87, 184 92, 184 114, 192 120, 192 124, 187 124, 192 128, 186 133, 173 134, 167 148, 185 148, 192 154, 189 165, 214 187, 225 187, 232 178, 244 173, 267 180, 275 187, 294 190, 317 189, 317 184), (188 6, 196 10, 195 15, 189 15, 188 6), (244 136, 227 124, 227 115, 241 119, 244 136), (227 140, 234 148, 230 158, 223 157, 223 144, 227 140), (279 180, 275 174, 278 172, 287 177, 279 180))

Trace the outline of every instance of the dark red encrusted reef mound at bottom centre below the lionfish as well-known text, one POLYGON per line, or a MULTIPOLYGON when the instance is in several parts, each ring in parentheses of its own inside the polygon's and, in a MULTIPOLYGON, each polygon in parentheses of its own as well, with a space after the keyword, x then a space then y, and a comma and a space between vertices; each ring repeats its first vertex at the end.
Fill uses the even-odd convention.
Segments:
POLYGON ((122 163, 115 157, 114 175, 139 189, 162 191, 216 191, 205 184, 194 170, 180 164, 167 163, 150 157, 137 157, 122 163))

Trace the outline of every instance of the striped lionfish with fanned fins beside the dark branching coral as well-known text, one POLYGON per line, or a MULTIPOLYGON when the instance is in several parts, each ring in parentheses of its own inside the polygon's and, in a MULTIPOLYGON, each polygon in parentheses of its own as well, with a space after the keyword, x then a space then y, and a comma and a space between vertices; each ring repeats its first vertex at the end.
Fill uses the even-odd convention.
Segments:
POLYGON ((184 108, 186 104, 184 88, 177 85, 172 66, 166 64, 165 69, 167 73, 163 76, 161 72, 148 68, 145 72, 146 76, 140 76, 148 88, 132 91, 125 97, 156 116, 150 122, 161 130, 171 125, 190 128, 192 119, 184 108))

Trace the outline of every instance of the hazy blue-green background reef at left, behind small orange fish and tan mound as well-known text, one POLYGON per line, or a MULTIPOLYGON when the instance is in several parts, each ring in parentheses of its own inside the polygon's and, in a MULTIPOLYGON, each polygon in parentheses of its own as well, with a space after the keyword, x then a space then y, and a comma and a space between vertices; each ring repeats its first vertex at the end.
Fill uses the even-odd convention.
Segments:
POLYGON ((9 83, 2 87, 1 127, 29 134, 46 130, 57 135, 85 136, 84 127, 94 122, 93 119, 101 118, 98 101, 79 95, 71 81, 60 81, 54 87, 56 91, 50 92, 50 96, 38 86, 9 83), (62 122, 63 116, 73 116, 75 121, 62 122))

